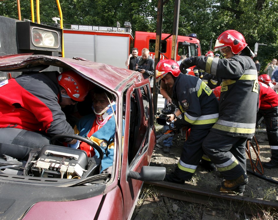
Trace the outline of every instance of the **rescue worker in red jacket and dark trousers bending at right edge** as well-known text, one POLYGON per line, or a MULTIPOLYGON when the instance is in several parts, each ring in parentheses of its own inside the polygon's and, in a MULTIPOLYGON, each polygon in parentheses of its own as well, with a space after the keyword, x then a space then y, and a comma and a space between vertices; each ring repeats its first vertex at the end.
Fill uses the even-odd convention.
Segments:
POLYGON ((259 111, 257 123, 264 117, 266 134, 271 149, 271 160, 263 164, 265 168, 278 167, 278 95, 267 84, 259 79, 259 111))

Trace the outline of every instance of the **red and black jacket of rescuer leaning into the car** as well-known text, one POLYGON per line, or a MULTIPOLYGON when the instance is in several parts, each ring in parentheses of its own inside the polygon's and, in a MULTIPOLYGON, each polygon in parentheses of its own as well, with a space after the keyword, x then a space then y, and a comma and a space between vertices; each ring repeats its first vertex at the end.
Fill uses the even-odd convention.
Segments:
MULTIPOLYGON (((0 83, 0 127, 14 127, 48 136, 74 134, 58 104, 56 71, 20 75, 0 83)), ((71 138, 65 138, 69 142, 71 138)))

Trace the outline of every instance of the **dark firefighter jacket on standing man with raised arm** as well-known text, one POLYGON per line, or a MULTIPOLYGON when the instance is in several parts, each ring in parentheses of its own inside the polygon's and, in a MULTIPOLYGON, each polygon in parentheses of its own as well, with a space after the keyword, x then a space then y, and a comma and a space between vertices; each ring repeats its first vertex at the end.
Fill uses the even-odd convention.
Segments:
POLYGON ((229 59, 199 56, 185 59, 180 69, 194 65, 223 80, 219 120, 213 125, 211 131, 234 137, 254 136, 258 77, 253 60, 242 55, 229 59))

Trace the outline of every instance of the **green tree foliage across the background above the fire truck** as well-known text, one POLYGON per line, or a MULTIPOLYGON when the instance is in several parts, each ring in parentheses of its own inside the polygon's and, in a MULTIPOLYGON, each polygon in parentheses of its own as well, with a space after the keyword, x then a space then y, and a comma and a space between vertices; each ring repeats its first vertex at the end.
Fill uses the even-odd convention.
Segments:
MULTIPOLYGON (((164 1, 163 33, 172 33, 175 1, 164 1)), ((30 0, 21 0, 21 17, 31 19, 30 0)), ((63 23, 95 26, 123 26, 130 21, 135 31, 156 32, 158 1, 129 0, 60 0, 63 23)), ((36 21, 36 1, 34 1, 36 21)), ((264 69, 269 60, 277 58, 278 4, 274 0, 180 0, 179 35, 196 33, 203 54, 212 49, 217 37, 225 30, 241 32, 254 50, 260 46, 257 59, 264 69)), ((0 14, 18 19, 17 1, 0 1, 0 14)), ((53 23, 59 17, 56 1, 40 1, 41 23, 53 23)))

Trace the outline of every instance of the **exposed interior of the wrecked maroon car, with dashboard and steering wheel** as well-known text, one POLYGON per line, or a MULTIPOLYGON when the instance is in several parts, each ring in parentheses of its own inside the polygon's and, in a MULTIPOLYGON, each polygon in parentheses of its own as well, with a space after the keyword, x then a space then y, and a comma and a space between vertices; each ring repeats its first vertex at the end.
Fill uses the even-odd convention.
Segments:
MULTIPOLYGON (((97 86, 97 85, 95 85, 97 86)), ((123 95, 122 117, 125 123, 129 123, 128 135, 128 163, 130 166, 148 147, 149 128, 153 125, 151 117, 151 96, 149 86, 135 88, 128 94, 128 88, 123 95), (129 109, 126 103, 129 102, 129 109), (128 114, 127 114, 128 112, 128 114), (127 117, 128 116, 128 117, 127 117)), ((117 100, 115 100, 117 101, 117 100)), ((63 108, 67 122, 74 127, 76 122, 83 116, 93 113, 92 96, 89 93, 83 102, 63 108)), ((117 112, 114 112, 117 114, 117 112)), ((117 118, 117 117, 116 117, 117 118)), ((22 176, 26 180, 36 181, 47 179, 51 181, 60 179, 85 179, 87 177, 102 176, 101 182, 109 181, 111 173, 100 173, 103 153, 97 156, 88 157, 85 151, 65 147, 59 138, 74 138, 86 142, 94 147, 95 151, 102 153, 96 143, 81 136, 68 134, 58 134, 51 138, 51 145, 44 145, 41 148, 30 148, 23 146, 23 150, 18 151, 17 145, 0 143, 0 177, 10 177, 14 175, 22 176)), ((118 147, 115 146, 115 150, 118 147)), ((115 154, 114 154, 115 159, 115 154)), ((24 180, 22 178, 22 180, 24 180)), ((94 180, 99 180, 96 177, 94 180)))

